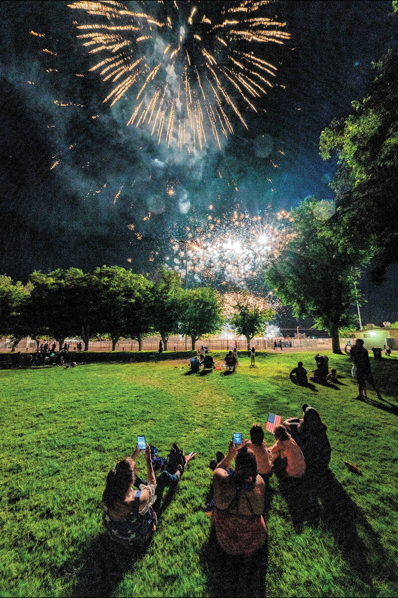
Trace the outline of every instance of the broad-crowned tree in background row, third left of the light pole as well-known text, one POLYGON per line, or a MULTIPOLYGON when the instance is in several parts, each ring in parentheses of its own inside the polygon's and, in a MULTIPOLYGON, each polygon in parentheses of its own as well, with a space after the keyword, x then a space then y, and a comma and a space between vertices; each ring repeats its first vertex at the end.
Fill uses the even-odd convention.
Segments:
POLYGON ((119 266, 102 266, 94 270, 91 281, 97 328, 102 334, 109 334, 114 351, 119 338, 127 335, 131 310, 140 297, 136 274, 119 266))

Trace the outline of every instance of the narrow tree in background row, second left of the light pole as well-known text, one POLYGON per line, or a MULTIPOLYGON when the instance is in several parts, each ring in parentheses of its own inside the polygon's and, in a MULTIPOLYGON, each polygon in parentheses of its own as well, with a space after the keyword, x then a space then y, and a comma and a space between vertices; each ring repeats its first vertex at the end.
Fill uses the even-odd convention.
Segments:
POLYGON ((142 349, 142 340, 153 331, 153 283, 142 274, 131 274, 135 298, 130 303, 127 317, 127 335, 138 341, 138 350, 142 349))

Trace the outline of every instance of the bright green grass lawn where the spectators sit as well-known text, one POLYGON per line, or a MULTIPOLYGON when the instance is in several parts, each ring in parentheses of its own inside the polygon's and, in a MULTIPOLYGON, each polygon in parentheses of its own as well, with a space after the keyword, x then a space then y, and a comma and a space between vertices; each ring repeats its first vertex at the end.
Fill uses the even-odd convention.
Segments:
MULTIPOLYGON (((397 596, 398 359, 372 368, 385 401, 354 400, 345 356, 329 355, 337 388, 302 389, 289 381, 313 353, 264 353, 237 373, 186 376, 185 362, 87 365, 2 371, 2 596, 214 596, 203 557, 210 520, 201 512, 216 450, 232 432, 248 436, 268 411, 319 410, 332 446, 333 486, 319 523, 293 526, 289 504, 271 478, 267 514, 267 596, 397 596), (185 369, 180 369, 185 366, 185 369), (167 454, 173 441, 195 450, 149 550, 133 566, 109 553, 100 499, 106 474, 131 454, 137 434, 167 454), (355 475, 344 460, 362 468, 355 475)), ((217 358, 216 358, 217 361, 217 358)), ((273 436, 265 432, 267 443, 273 436)), ((139 463, 143 467, 143 457, 139 463)), ((250 588, 236 589, 250 595, 250 588)))

